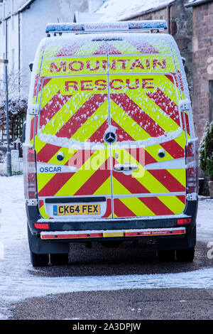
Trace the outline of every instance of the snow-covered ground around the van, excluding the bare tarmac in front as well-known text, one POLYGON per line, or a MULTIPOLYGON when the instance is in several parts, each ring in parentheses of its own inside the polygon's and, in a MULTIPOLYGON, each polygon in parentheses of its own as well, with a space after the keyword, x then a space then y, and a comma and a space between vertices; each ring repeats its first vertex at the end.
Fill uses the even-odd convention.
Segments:
MULTIPOLYGON (((213 269, 178 274, 43 277, 32 274, 26 232, 23 176, 0 176, 0 319, 9 303, 33 296, 117 289, 213 289, 213 269)), ((197 239, 213 247, 213 200, 200 200, 197 239)))

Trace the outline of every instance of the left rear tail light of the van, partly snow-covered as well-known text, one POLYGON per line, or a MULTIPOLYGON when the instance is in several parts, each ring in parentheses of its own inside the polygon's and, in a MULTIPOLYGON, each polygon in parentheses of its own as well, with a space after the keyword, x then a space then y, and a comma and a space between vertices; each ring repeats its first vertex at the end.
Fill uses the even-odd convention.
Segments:
POLYGON ((23 145, 23 182, 25 198, 37 198, 35 150, 23 145))

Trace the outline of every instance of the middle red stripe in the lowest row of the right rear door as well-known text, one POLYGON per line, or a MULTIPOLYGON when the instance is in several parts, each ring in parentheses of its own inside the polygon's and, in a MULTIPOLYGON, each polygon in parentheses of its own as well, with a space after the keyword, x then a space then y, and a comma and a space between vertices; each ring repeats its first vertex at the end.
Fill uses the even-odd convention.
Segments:
POLYGON ((157 197, 141 197, 139 198, 155 215, 174 215, 161 200, 157 197))

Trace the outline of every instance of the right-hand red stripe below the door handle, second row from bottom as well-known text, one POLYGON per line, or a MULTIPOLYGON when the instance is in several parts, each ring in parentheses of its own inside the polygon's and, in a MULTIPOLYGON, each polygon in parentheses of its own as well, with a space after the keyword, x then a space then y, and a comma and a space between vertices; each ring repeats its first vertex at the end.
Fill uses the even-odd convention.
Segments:
POLYGON ((165 188, 171 192, 185 191, 185 187, 166 169, 148 170, 165 188))

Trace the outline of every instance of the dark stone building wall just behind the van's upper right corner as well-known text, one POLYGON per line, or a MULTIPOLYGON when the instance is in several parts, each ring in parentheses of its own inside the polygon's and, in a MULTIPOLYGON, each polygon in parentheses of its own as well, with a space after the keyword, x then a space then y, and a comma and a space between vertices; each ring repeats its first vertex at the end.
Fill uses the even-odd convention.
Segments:
MULTIPOLYGON (((188 0, 176 0, 170 6, 170 34, 175 38, 180 54, 186 59, 185 72, 189 85, 190 96, 193 93, 192 76, 192 9, 185 8, 188 0)), ((143 14, 136 20, 165 20, 168 21, 168 8, 143 14)))

